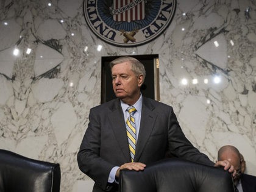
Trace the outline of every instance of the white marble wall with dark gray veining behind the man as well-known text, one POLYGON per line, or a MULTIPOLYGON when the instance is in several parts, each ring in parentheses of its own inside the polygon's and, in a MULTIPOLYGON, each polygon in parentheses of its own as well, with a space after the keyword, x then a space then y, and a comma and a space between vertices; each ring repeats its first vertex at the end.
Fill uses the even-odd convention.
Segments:
POLYGON ((177 0, 168 29, 135 48, 97 38, 82 0, 0 0, 0 21, 0 148, 60 163, 61 191, 90 191, 76 154, 108 55, 158 54, 160 99, 185 135, 213 161, 235 145, 256 175, 255 0, 177 0))

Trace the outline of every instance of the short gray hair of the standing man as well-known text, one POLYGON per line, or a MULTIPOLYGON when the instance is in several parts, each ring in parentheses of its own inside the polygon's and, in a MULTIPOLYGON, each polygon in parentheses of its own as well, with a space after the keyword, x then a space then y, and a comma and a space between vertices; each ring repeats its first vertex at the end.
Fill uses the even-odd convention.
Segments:
POLYGON ((142 74, 143 82, 144 82, 144 79, 146 77, 146 71, 145 71, 144 65, 139 60, 135 59, 134 57, 122 56, 122 57, 118 57, 117 59, 113 60, 112 62, 109 63, 111 71, 112 71, 112 68, 114 65, 123 63, 123 62, 129 62, 131 65, 132 71, 137 76, 142 74))

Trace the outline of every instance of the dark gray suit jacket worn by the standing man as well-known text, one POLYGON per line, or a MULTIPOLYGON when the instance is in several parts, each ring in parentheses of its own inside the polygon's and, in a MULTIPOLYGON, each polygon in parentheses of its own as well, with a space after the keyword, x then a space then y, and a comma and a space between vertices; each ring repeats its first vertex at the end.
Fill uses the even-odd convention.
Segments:
MULTIPOLYGON (((77 154, 79 168, 94 180, 93 191, 117 191, 116 188, 111 190, 108 183, 110 171, 114 166, 130 162, 120 100, 113 99, 91 108, 89 121, 77 154)), ((172 107, 143 97, 134 161, 147 165, 165 158, 166 152, 174 157, 214 165, 187 140, 172 107)))

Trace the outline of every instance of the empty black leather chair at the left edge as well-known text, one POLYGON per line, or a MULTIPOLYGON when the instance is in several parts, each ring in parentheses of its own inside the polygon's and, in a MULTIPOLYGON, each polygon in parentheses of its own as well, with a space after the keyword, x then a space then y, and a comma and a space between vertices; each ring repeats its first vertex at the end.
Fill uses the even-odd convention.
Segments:
POLYGON ((59 192, 60 165, 0 149, 1 192, 59 192))

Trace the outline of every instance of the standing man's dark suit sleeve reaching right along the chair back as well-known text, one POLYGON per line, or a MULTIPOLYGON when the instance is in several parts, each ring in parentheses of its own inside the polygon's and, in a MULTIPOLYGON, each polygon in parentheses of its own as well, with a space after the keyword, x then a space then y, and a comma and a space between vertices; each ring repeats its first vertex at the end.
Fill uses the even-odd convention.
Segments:
POLYGON ((191 144, 190 141, 185 137, 172 107, 171 112, 169 113, 168 143, 169 153, 174 157, 202 163, 204 165, 215 165, 215 163, 210 161, 207 155, 199 152, 199 150, 195 148, 193 144, 191 144))

